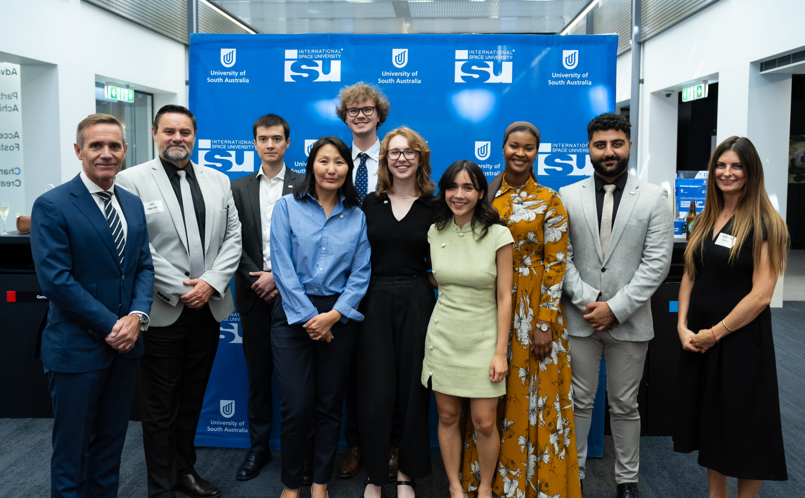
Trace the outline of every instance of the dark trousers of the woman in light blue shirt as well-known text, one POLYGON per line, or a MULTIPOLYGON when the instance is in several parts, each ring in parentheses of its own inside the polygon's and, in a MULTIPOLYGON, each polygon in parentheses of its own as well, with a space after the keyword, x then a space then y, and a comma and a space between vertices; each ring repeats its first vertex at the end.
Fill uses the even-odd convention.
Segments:
MULTIPOLYGON (((332 310, 338 295, 309 295, 320 313, 332 310)), ((290 325, 278 297, 271 321, 271 348, 279 384, 281 479, 288 488, 302 485, 302 472, 310 427, 315 426, 313 482, 325 484, 332 477, 338 437, 341 433, 341 404, 344 385, 355 348, 357 324, 336 322, 333 339, 312 340, 302 327, 290 325)))

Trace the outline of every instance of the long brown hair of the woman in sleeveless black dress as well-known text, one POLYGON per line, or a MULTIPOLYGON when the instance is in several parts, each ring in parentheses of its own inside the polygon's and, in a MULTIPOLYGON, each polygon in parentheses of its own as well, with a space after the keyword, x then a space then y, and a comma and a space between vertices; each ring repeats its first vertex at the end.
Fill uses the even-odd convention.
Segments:
POLYGON ((749 138, 730 137, 721 142, 712 153, 708 164, 707 197, 704 200, 704 209, 696 216, 693 225, 691 240, 685 249, 685 273, 695 275, 696 263, 694 253, 700 254, 704 249, 704 242, 712 237, 713 226, 724 208, 724 193, 716 187, 716 166, 722 154, 733 150, 741 160, 746 183, 744 184, 741 199, 738 200, 733 215, 733 236, 735 243, 729 250, 729 261, 733 261, 741 252, 749 232, 753 232, 752 257, 755 267, 761 264, 760 253, 763 244, 763 228, 766 228, 769 242, 769 266, 774 274, 782 274, 786 270, 786 256, 788 252, 789 237, 786 222, 782 216, 774 211, 766 193, 763 183, 763 164, 749 138))

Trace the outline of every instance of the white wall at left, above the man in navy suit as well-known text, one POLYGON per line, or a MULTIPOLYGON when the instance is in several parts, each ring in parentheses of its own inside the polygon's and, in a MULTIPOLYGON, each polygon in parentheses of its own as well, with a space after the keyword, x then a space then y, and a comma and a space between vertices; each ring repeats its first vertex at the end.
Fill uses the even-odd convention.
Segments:
POLYGON ((182 43, 81 0, 3 2, 2 18, 0 60, 23 64, 28 212, 45 183, 81 171, 72 143, 95 112, 97 75, 155 93, 155 110, 187 105, 182 43))

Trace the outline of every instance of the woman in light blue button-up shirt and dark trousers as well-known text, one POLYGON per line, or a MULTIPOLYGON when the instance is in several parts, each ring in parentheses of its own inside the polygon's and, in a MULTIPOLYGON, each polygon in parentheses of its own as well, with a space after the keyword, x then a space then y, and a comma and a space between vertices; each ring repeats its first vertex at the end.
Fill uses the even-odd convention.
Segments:
POLYGON ((352 360, 358 303, 369 286, 369 240, 341 139, 323 137, 308 155, 307 176, 275 204, 271 268, 279 289, 271 349, 281 399, 281 498, 298 498, 306 439, 316 425, 312 498, 327 498, 341 403, 352 360))

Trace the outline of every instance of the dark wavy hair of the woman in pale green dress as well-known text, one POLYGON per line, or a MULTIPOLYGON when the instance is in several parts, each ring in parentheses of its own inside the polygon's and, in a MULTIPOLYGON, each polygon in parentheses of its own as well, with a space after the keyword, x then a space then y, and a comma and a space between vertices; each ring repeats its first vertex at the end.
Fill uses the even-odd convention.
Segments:
POLYGON ((459 171, 467 171, 470 181, 473 182, 473 187, 483 195, 483 197, 478 200, 478 204, 475 205, 473 221, 470 225, 473 228, 473 232, 475 232, 476 224, 481 224, 481 232, 478 233, 479 237, 477 238, 477 241, 480 241, 486 236, 486 233, 489 232, 489 227, 493 224, 500 224, 502 226, 506 226, 506 224, 501 220, 500 213, 497 212, 497 209, 492 207, 492 203, 489 200, 490 196, 486 195, 488 185, 484 172, 472 161, 461 159, 460 161, 452 163, 447 171, 444 171, 444 175, 442 175, 442 178, 439 180, 439 195, 436 195, 436 200, 433 201, 433 221, 436 223, 436 228, 442 230, 447 226, 450 220, 452 220, 453 212, 450 210, 450 206, 448 206, 448 202, 444 198, 444 192, 452 185, 459 171))

